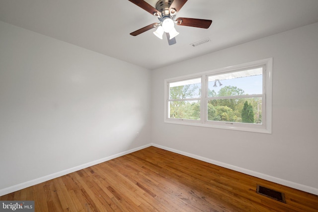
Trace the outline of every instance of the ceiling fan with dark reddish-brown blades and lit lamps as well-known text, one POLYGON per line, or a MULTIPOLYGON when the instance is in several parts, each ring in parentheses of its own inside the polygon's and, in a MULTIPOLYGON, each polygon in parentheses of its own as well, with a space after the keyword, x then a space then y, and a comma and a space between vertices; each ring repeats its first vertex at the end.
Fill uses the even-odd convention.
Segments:
POLYGON ((156 28, 157 30, 154 34, 162 39, 163 33, 166 34, 169 45, 173 45, 176 43, 175 36, 179 33, 175 30, 174 24, 180 26, 192 26, 192 27, 199 27, 199 28, 209 28, 212 20, 206 19, 197 19, 197 18, 182 18, 178 17, 175 19, 176 13, 182 8, 182 6, 187 2, 187 0, 159 0, 156 3, 156 8, 152 5, 147 3, 144 0, 129 0, 136 4, 137 6, 141 7, 142 9, 146 10, 147 12, 151 13, 152 15, 158 17, 159 23, 152 23, 148 26, 145 26, 141 29, 138 29, 132 33, 133 36, 139 35, 143 32, 146 32, 150 29, 156 28))

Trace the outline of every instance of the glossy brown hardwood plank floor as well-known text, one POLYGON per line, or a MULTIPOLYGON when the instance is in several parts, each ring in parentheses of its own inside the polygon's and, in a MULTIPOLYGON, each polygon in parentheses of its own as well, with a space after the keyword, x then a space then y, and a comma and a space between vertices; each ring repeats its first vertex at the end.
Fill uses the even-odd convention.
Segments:
POLYGON ((318 212, 318 196, 148 147, 0 197, 36 212, 318 212), (283 192, 286 204, 256 193, 283 192))

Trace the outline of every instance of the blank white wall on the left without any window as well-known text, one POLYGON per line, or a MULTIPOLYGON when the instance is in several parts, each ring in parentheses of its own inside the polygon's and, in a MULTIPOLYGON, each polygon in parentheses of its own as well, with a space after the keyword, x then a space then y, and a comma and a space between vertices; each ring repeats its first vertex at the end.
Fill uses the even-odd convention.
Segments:
POLYGON ((150 79, 0 22, 0 196, 151 143, 150 79))

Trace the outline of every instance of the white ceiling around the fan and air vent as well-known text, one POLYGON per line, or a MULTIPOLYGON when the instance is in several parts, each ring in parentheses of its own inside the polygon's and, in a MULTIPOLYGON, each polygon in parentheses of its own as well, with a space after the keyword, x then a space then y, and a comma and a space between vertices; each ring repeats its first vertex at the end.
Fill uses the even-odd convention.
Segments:
POLYGON ((209 29, 176 26, 177 43, 169 46, 155 29, 129 34, 158 19, 128 0, 0 0, 3 22, 151 70, 318 22, 318 0, 188 0, 176 17, 213 22, 209 29))

